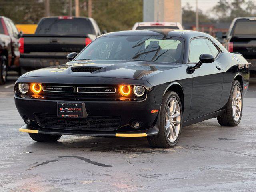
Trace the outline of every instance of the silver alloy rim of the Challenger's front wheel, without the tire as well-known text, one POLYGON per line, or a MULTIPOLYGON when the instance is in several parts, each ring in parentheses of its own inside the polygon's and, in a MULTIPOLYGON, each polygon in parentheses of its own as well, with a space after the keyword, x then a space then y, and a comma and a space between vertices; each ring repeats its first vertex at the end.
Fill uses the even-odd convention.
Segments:
POLYGON ((175 142, 180 133, 180 105, 175 97, 172 97, 166 107, 166 135, 170 142, 175 142))

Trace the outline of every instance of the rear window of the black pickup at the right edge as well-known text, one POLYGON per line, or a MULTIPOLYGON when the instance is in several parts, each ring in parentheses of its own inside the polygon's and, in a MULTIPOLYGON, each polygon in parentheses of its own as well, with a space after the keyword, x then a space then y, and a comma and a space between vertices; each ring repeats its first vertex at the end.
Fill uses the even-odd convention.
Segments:
POLYGON ((256 36, 256 20, 237 20, 233 35, 253 35, 256 36))

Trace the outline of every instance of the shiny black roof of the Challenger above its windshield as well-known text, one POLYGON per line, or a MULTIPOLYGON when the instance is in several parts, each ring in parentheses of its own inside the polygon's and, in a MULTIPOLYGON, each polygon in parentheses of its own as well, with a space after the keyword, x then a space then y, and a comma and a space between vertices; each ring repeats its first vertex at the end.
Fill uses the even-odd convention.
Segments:
POLYGON ((102 36, 121 36, 121 35, 152 35, 152 36, 172 36, 172 37, 211 37, 210 35, 198 31, 180 30, 180 29, 144 29, 110 32, 102 36))

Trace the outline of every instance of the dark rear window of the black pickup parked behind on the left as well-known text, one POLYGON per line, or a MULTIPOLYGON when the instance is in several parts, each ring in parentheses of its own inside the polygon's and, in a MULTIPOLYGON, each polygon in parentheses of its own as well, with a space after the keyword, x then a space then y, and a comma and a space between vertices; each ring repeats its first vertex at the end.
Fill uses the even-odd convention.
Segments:
POLYGON ((90 20, 87 18, 46 18, 41 20, 36 29, 36 34, 94 34, 90 20))

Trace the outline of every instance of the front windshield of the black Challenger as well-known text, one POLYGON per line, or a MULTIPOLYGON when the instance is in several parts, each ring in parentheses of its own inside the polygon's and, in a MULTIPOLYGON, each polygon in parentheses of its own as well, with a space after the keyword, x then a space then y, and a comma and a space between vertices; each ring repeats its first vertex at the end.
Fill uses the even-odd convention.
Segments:
POLYGON ((76 60, 182 62, 183 39, 170 36, 107 36, 94 40, 76 60))

